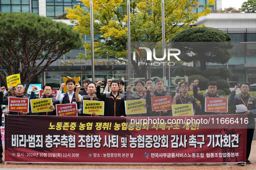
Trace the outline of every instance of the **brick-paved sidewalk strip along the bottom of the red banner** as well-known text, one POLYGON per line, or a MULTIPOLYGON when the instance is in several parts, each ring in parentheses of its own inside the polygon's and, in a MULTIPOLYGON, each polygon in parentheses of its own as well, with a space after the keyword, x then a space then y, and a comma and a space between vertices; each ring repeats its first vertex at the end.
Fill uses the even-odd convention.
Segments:
MULTIPOLYGON (((4 145, 3 145, 4 147, 4 145)), ((4 153, 3 153, 4 160, 4 153)), ((153 170, 256 170, 256 141, 253 141, 249 157, 252 164, 240 167, 237 164, 47 164, 47 163, 8 163, 2 168, 22 169, 153 169, 153 170)))

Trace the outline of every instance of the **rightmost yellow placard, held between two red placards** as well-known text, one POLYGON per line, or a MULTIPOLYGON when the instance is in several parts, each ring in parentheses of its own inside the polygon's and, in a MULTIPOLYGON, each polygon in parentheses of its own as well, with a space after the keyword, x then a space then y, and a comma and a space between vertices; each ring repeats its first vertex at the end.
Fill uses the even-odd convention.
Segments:
POLYGON ((192 104, 172 104, 173 116, 193 116, 194 110, 192 104))

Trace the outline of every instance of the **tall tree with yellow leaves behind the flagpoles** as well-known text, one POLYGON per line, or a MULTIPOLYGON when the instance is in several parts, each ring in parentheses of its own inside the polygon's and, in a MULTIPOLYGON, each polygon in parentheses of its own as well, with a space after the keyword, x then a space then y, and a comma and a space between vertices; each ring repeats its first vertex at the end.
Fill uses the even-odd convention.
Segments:
MULTIPOLYGON (((90 0, 81 0, 90 7, 90 0)), ((197 0, 165 0, 165 41, 173 35, 189 28, 198 17, 210 13, 209 5, 201 13, 194 13, 199 7, 197 0)), ((127 42, 127 0, 93 0, 94 15, 94 56, 104 58, 126 58, 127 42)), ((75 29, 81 34, 90 35, 90 13, 75 6, 68 9, 67 18, 75 19, 75 29)), ((130 1, 131 42, 161 42, 162 41, 162 10, 161 0, 131 0, 130 1)), ((91 55, 91 44, 84 44, 91 55)), ((88 60, 80 55, 80 58, 88 60)), ((145 59, 139 59, 145 60, 145 59)), ((148 65, 138 67, 136 61, 131 61, 137 77, 145 77, 148 65)), ((153 62, 153 61, 151 61, 153 62)))

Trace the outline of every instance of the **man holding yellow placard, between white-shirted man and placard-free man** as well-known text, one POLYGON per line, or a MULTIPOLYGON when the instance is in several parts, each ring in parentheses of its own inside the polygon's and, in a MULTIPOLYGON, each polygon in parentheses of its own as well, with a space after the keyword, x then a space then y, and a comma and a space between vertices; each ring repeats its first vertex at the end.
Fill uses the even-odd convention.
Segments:
MULTIPOLYGON (((79 89, 81 88, 80 85, 77 86, 77 91, 79 91, 79 89)), ((88 89, 88 94, 87 95, 83 95, 83 100, 86 101, 102 101, 99 98, 97 98, 95 91, 96 91, 96 84, 94 82, 89 82, 87 85, 87 89, 88 89)), ((78 92, 76 91, 76 101, 78 101, 79 103, 82 103, 81 98, 79 98, 78 96, 78 92)), ((83 108, 84 109, 84 108, 83 108)), ((97 115, 95 112, 93 112, 92 114, 88 113, 88 114, 84 114, 84 112, 78 114, 78 116, 99 116, 97 115)))

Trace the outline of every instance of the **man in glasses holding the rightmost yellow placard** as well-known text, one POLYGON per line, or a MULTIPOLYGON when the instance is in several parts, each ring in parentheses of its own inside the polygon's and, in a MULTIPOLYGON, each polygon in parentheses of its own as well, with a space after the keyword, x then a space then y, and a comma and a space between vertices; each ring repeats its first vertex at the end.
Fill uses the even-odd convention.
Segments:
POLYGON ((188 94, 189 83, 181 82, 179 84, 181 89, 181 94, 176 93, 175 97, 172 99, 172 104, 193 104, 193 109, 195 113, 195 109, 197 109, 197 104, 195 98, 188 94))

